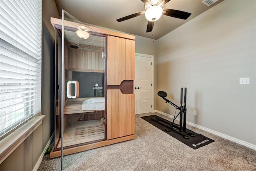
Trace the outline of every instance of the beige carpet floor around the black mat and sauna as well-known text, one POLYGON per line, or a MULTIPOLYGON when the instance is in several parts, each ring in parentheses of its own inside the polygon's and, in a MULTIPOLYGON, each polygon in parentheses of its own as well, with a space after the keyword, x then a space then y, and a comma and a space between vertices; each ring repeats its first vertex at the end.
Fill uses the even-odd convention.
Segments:
MULTIPOLYGON (((206 131, 188 129, 214 139, 199 149, 192 149, 135 116, 134 140, 108 145, 64 157, 65 171, 256 171, 256 151, 206 131)), ((60 157, 44 156, 38 171, 60 170, 60 157)))

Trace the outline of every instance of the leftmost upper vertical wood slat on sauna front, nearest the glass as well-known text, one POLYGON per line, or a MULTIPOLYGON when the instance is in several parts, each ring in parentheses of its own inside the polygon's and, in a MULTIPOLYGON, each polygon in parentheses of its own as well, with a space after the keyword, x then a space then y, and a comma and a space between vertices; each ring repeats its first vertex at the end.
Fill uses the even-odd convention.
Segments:
POLYGON ((113 36, 108 36, 108 57, 107 57, 107 74, 108 74, 108 79, 107 79, 107 84, 112 85, 112 39, 113 36))

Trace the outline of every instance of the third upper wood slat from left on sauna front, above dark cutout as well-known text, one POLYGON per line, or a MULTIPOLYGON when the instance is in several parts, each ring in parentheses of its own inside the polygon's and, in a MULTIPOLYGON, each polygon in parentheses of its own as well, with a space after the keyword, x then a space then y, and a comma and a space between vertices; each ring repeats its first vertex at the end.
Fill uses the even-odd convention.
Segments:
POLYGON ((118 85, 125 80, 126 73, 126 40, 124 38, 119 38, 119 81, 118 85))

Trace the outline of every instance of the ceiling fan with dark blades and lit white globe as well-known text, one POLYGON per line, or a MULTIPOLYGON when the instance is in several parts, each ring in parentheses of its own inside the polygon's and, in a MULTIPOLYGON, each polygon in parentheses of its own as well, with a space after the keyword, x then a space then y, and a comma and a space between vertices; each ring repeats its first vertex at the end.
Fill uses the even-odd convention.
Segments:
POLYGON ((167 8, 162 8, 164 4, 169 2, 170 0, 141 0, 145 4, 145 10, 146 11, 140 11, 134 14, 130 14, 128 16, 124 16, 121 18, 116 19, 118 22, 122 22, 124 20, 128 20, 140 15, 145 14, 146 19, 148 20, 148 26, 147 26, 147 33, 152 32, 154 22, 158 20, 162 14, 174 18, 180 18, 183 20, 186 20, 191 13, 184 12, 184 11, 179 11, 179 10, 172 10, 172 9, 167 9, 167 8))

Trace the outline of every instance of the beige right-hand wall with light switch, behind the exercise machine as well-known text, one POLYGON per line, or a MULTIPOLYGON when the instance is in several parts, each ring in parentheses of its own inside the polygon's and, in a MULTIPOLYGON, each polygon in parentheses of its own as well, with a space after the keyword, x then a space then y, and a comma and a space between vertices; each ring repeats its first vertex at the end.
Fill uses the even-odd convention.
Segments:
MULTIPOLYGON (((187 87, 188 121, 256 145, 255 34, 255 0, 214 6, 158 39, 157 91, 178 104, 187 87)), ((160 97, 157 109, 174 115, 160 97)))

